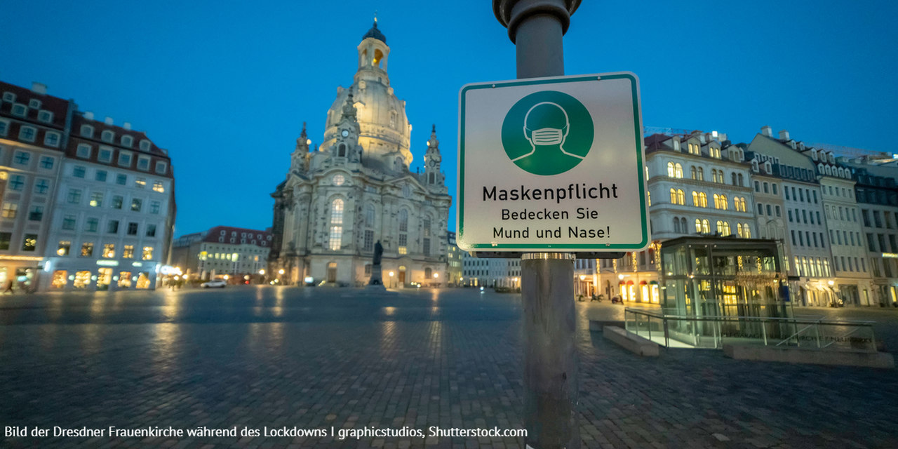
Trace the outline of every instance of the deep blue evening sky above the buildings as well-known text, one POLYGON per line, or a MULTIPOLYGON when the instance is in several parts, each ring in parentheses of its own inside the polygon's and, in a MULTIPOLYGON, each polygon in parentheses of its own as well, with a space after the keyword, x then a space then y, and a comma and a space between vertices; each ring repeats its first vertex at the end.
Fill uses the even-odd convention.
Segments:
MULTIPOLYGON (((515 48, 488 0, 30 0, 2 9, 0 79, 48 84, 169 150, 176 235, 271 225, 269 193, 302 123, 320 142, 375 9, 414 127, 412 171, 436 123, 453 197, 459 89, 515 77, 515 48)), ((566 73, 637 74, 649 127, 748 142, 770 125, 808 143, 891 152, 896 17, 894 1, 585 0, 565 37, 566 73)))

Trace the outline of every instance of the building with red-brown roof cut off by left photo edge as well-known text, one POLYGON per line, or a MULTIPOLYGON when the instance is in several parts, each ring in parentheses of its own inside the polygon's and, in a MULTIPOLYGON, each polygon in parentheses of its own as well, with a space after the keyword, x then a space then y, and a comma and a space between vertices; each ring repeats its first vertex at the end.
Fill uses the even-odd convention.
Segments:
POLYGON ((0 286, 39 282, 72 110, 43 84, 0 82, 0 286))

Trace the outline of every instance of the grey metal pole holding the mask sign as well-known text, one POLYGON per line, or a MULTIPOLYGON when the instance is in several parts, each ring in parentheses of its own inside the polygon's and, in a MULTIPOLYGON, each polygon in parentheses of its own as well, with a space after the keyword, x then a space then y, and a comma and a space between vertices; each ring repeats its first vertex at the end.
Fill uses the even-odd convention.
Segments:
MULTIPOLYGON (((580 0, 493 0, 493 13, 515 43, 517 77, 564 75, 561 38, 580 0)), ((524 443, 533 449, 579 448, 575 254, 525 253, 524 443)))

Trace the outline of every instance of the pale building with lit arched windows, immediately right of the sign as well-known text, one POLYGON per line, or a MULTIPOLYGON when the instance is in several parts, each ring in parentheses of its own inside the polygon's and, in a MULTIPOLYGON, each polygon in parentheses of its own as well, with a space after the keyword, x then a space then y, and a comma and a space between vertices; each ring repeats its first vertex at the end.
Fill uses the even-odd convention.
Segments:
POLYGON ((732 145, 725 134, 692 131, 647 136, 645 147, 653 242, 646 251, 597 260, 594 288, 606 298, 659 304, 657 254, 666 240, 689 235, 753 238, 757 223, 743 146, 732 145))

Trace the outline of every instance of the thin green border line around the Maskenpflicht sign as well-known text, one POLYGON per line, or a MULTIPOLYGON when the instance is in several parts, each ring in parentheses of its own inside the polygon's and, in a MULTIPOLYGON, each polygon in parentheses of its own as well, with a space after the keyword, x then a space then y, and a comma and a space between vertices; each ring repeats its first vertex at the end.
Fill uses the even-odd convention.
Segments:
POLYGON ((639 113, 639 92, 638 81, 635 74, 629 72, 616 72, 612 74, 595 74, 595 75, 572 75, 556 78, 535 78, 520 81, 500 81, 496 83, 478 83, 466 84, 462 86, 459 92, 459 169, 458 169, 458 236, 456 241, 463 240, 464 236, 464 107, 465 94, 476 89, 497 89, 500 87, 514 87, 521 85, 534 84, 561 84, 561 83, 578 83, 584 81, 595 81, 601 83, 605 80, 628 79, 630 82, 630 92, 633 96, 633 134, 636 141, 636 166, 638 167, 637 176, 639 180, 639 214, 642 217, 642 242, 638 244, 627 243, 592 243, 592 244, 550 244, 550 243, 532 243, 532 244, 516 244, 516 243, 476 243, 471 244, 473 250, 491 250, 491 251, 531 251, 531 250, 582 250, 582 251, 618 251, 618 250, 643 250, 648 246, 648 225, 647 225, 647 207, 646 207, 646 180, 644 163, 642 160, 642 118, 639 113))

